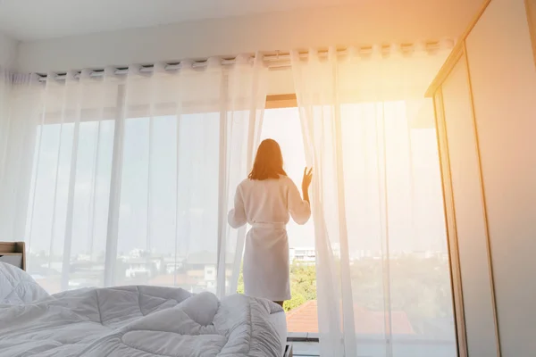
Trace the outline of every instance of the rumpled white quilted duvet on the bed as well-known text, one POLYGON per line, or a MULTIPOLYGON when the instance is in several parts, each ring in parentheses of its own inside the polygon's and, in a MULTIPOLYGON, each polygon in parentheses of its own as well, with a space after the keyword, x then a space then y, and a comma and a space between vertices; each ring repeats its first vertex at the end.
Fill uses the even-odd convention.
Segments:
POLYGON ((157 286, 0 301, 0 356, 276 357, 281 339, 268 318, 277 311, 244 295, 219 301, 157 286))

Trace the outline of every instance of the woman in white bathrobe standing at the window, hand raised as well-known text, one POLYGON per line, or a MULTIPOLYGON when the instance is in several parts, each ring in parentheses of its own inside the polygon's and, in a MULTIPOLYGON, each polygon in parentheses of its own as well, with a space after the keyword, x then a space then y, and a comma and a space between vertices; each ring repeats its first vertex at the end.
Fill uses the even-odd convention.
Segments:
POLYGON ((296 185, 283 170, 280 145, 264 140, 257 150, 253 170, 237 187, 229 224, 239 228, 251 225, 244 253, 244 290, 246 295, 279 303, 290 299, 289 216, 297 224, 311 217, 309 185, 313 169, 304 171, 303 199, 296 185))

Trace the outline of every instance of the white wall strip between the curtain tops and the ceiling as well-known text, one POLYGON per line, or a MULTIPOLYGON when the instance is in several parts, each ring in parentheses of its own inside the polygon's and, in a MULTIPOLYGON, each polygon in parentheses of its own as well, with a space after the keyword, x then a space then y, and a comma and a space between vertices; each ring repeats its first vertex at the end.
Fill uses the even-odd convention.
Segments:
POLYGON ((366 1, 358 6, 273 12, 22 43, 18 69, 80 70, 310 46, 457 37, 480 2, 471 1, 456 6, 456 10, 440 2, 413 3, 418 6, 366 1))

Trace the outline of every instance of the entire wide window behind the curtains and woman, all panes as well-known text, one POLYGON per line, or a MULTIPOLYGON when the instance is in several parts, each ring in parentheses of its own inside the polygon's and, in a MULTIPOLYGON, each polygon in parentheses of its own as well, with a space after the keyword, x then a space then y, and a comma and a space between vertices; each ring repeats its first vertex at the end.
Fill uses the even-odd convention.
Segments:
MULTIPOLYGON (((284 105, 276 102, 267 103, 262 138, 280 143, 285 170, 299 187, 306 166, 299 113, 289 98, 281 102, 284 105)), ((437 355, 452 356, 455 328, 433 113, 408 128, 399 119, 413 110, 411 103, 382 105, 388 123, 384 149, 389 170, 388 259, 375 230, 376 216, 371 214, 378 210, 374 191, 378 178, 373 170, 358 169, 376 165, 372 113, 378 104, 346 104, 341 111, 356 333, 363 345, 373 346, 375 338, 383 338, 389 320, 393 344, 402 346, 399 348, 410 346, 407 348, 414 348, 410 351, 417 351, 412 355, 422 355, 419 353, 429 350, 419 350, 420 346, 431 344, 437 355), (399 149, 409 143, 409 150, 399 149)), ((180 286, 194 293, 215 292, 219 115, 124 121, 123 151, 118 158, 121 192, 116 193, 121 195, 121 206, 115 285, 180 286), (201 181, 204 185, 199 185, 201 181)), ((74 123, 38 127, 29 204, 28 270, 51 293, 105 284, 115 135, 113 120, 83 121, 78 137, 74 123), (73 145, 75 140, 77 145, 73 145), (74 193, 71 202, 70 190, 74 193), (67 214, 70 205, 71 215, 67 214)), ((326 203, 328 211, 335 209, 330 204, 326 203)), ((298 226, 291 221, 288 233, 293 295, 285 306, 289 332, 315 336, 314 222, 298 226)), ((232 264, 232 257, 226 262, 232 264)))

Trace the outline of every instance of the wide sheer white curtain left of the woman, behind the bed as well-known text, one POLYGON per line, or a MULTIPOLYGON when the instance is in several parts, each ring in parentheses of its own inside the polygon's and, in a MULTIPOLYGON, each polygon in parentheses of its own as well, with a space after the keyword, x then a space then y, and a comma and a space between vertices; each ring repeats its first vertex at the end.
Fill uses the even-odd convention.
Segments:
POLYGON ((243 243, 222 222, 262 119, 263 60, 177 67, 47 76, 23 238, 49 291, 236 286, 243 243))

